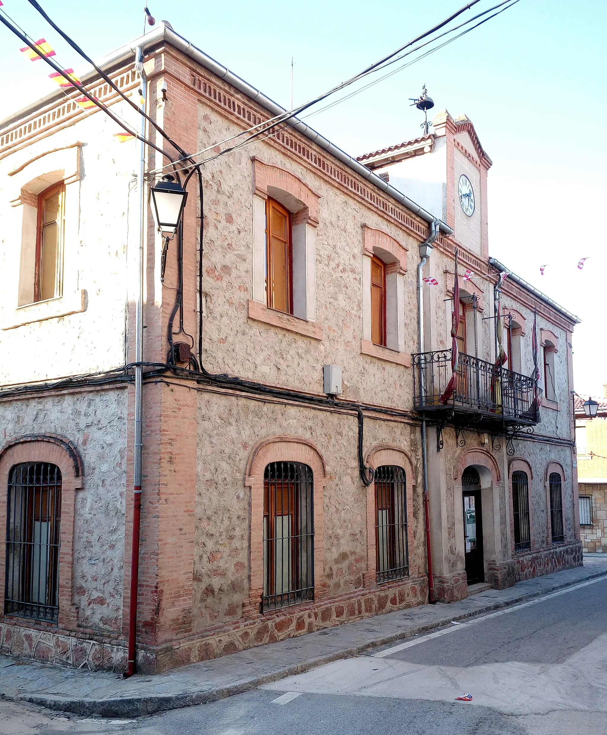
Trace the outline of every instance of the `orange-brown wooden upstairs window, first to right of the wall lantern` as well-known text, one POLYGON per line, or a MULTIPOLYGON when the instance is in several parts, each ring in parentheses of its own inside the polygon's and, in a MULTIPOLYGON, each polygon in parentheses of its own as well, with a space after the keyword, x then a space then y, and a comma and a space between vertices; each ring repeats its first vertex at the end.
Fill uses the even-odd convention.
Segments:
POLYGON ((265 283, 267 306, 293 313, 293 253, 291 213, 277 201, 266 204, 265 283))

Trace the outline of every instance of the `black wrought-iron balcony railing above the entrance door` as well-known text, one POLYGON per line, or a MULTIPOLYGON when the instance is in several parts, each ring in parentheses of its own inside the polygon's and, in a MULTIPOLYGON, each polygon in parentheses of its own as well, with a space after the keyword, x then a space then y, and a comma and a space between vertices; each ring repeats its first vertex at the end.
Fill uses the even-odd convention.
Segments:
POLYGON ((449 401, 441 404, 440 397, 451 377, 451 351, 423 352, 412 357, 417 411, 453 409, 458 415, 468 413, 509 424, 537 423, 534 379, 460 353, 456 388, 449 401))

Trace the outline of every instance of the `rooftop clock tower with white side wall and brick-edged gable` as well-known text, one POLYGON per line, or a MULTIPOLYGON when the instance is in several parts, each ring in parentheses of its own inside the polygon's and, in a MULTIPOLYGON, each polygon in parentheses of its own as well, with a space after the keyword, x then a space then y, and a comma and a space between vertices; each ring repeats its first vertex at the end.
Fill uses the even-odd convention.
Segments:
POLYGON ((489 257, 487 171, 491 159, 466 115, 442 110, 433 132, 359 157, 359 162, 453 227, 454 239, 489 257))

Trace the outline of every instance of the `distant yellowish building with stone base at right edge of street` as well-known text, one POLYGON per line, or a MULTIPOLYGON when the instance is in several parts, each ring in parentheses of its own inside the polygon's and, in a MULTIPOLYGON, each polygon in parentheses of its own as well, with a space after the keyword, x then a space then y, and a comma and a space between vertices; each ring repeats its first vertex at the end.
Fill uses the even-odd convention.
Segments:
POLYGON ((587 418, 575 395, 580 538, 584 553, 607 553, 607 383, 595 418, 587 418))

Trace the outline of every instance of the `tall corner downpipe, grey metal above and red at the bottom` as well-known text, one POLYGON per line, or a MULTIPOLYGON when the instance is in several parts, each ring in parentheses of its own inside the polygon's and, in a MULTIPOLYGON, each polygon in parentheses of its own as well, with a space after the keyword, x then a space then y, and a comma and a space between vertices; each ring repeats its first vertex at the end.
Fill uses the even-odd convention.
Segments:
MULTIPOLYGON (((148 93, 148 79, 143 68, 143 49, 137 46, 137 63, 135 68, 141 75, 140 104, 145 112, 148 93)), ((141 137, 146 137, 146 118, 141 118, 141 137)), ((139 587, 139 547, 141 521, 141 463, 143 456, 143 231, 146 198, 144 196, 146 166, 146 144, 140 142, 140 166, 137 176, 139 184, 139 248, 138 248, 138 283, 137 302, 135 305, 135 417, 133 446, 133 528, 131 544, 131 584, 129 592, 129 655, 124 678, 128 678, 136 670, 137 639, 137 588, 139 587)))

